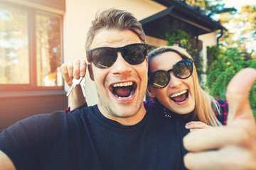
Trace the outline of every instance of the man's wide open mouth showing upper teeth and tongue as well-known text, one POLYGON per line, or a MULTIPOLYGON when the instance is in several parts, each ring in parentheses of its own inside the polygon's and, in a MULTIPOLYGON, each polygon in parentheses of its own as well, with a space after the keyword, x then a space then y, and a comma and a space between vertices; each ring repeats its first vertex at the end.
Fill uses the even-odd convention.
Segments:
POLYGON ((132 81, 112 84, 112 86, 110 86, 110 91, 117 98, 130 98, 134 95, 136 89, 137 84, 132 81))

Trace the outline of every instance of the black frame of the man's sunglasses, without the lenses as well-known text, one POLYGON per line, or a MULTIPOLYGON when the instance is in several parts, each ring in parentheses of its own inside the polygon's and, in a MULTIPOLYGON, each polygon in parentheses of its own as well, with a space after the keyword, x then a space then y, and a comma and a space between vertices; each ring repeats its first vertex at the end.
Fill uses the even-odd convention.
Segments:
MULTIPOLYGON (((144 46, 145 47, 145 51, 144 51, 144 60, 146 59, 146 55, 147 55, 147 51, 148 51, 148 45, 147 44, 145 44, 145 43, 134 43, 134 44, 129 44, 129 45, 125 45, 125 46, 123 46, 123 47, 96 47, 96 48, 93 48, 93 49, 91 49, 91 50, 88 50, 87 51, 87 55, 88 55, 88 62, 92 62, 94 65, 95 65, 95 67, 97 67, 96 66, 96 64, 95 64, 95 62, 93 62, 93 59, 92 59, 92 52, 94 52, 95 50, 102 50, 102 49, 111 49, 111 50, 114 50, 114 62, 116 62, 117 61, 117 52, 121 52, 121 55, 122 55, 122 57, 124 58, 124 48, 125 47, 129 47, 129 46, 133 46, 133 45, 142 45, 142 46, 144 46)), ((125 60, 125 58, 124 58, 124 60, 125 60)), ((143 60, 143 62, 144 62, 144 60, 143 60)), ((127 62, 127 60, 125 60, 126 62, 127 62)), ((110 67, 112 67, 112 65, 114 64, 114 62, 109 66, 109 67, 103 67, 102 66, 102 68, 101 67, 97 67, 97 68, 100 68, 100 69, 105 69, 105 68, 110 68, 110 67)), ((129 62, 127 62, 127 63, 129 63, 129 62)), ((130 64, 130 63, 129 63, 130 64)), ((142 64, 142 62, 141 63, 138 63, 138 64, 142 64)), ((137 64, 132 64, 132 65, 137 65, 137 64)))

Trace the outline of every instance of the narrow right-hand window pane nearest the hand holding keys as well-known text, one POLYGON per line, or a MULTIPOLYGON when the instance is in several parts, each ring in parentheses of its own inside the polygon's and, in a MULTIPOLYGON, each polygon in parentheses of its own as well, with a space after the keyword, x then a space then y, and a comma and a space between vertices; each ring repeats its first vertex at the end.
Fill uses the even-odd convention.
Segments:
POLYGON ((60 73, 61 18, 36 12, 36 71, 38 86, 63 86, 60 73))

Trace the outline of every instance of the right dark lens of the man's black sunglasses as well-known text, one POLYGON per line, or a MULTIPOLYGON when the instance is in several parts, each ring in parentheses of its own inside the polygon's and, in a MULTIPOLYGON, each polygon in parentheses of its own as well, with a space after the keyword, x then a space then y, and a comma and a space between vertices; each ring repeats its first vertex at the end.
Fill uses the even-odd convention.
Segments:
POLYGON ((129 64, 142 64, 146 58, 144 45, 127 45, 122 48, 122 57, 129 64))

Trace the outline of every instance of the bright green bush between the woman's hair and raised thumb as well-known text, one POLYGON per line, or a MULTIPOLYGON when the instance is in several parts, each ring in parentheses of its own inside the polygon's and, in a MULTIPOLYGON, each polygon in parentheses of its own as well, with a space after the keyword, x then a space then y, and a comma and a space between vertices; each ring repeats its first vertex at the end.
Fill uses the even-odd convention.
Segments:
MULTIPOLYGON (((246 67, 256 68, 255 60, 244 60, 242 52, 238 48, 231 48, 225 51, 218 47, 208 47, 208 55, 212 55, 208 62, 207 81, 206 86, 212 92, 215 98, 226 100, 225 91, 229 81, 241 69, 246 67), (218 55, 216 55, 218 54, 218 55), (215 60, 212 60, 215 59, 215 60)), ((256 83, 252 86, 250 91, 250 103, 252 111, 256 118, 256 83)))

